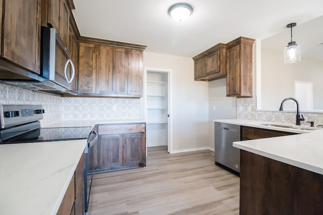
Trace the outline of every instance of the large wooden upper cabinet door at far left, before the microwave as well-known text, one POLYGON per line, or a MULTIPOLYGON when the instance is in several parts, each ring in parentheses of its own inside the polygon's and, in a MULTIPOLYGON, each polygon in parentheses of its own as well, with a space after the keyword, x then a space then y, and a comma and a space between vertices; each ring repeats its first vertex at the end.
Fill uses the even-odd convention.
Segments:
POLYGON ((41 0, 7 0, 5 7, 2 56, 39 74, 41 0))

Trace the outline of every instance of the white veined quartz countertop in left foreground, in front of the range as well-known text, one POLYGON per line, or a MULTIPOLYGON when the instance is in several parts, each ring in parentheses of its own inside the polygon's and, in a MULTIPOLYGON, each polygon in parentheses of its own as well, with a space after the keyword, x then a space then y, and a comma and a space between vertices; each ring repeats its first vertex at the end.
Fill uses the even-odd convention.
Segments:
POLYGON ((0 214, 56 214, 86 142, 0 145, 0 214))

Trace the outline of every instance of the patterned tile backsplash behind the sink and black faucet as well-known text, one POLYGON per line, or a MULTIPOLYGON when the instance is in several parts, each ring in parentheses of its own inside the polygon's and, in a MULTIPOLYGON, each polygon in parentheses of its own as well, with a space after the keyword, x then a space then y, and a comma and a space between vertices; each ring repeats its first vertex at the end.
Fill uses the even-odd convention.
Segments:
MULTIPOLYGON (((295 111, 296 112, 296 111, 295 111)), ((256 97, 237 99, 237 118, 256 121, 295 123, 295 112, 256 110, 256 97)), ((314 121, 314 125, 323 125, 323 113, 301 112, 305 121, 301 125, 309 125, 307 121, 314 121)))

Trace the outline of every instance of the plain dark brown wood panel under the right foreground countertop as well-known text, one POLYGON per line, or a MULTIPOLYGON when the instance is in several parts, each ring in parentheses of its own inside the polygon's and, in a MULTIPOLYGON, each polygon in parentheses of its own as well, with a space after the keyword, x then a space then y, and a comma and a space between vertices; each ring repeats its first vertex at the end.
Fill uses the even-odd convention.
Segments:
POLYGON ((323 214, 323 175, 240 152, 240 214, 323 214))

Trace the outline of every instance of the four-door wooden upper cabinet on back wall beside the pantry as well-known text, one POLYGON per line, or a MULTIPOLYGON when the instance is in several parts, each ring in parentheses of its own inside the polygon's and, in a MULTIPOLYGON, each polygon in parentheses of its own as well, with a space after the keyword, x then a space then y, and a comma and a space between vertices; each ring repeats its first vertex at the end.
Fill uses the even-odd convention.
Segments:
POLYGON ((80 41, 80 95, 142 97, 146 46, 88 37, 80 41))

